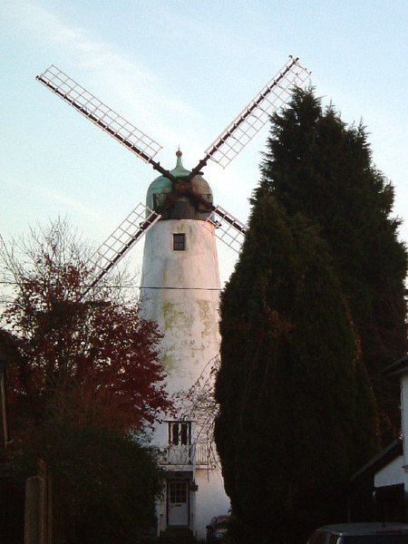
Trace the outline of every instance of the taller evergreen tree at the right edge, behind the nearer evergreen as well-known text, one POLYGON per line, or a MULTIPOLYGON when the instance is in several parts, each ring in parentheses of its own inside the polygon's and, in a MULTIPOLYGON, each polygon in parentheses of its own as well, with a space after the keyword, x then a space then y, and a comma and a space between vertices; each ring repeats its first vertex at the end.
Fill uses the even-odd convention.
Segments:
POLYGON ((346 127, 311 89, 296 90, 275 116, 263 174, 289 217, 315 224, 335 257, 388 440, 399 427, 399 395, 382 371, 408 348, 407 253, 391 215, 393 187, 374 167, 364 127, 346 127))

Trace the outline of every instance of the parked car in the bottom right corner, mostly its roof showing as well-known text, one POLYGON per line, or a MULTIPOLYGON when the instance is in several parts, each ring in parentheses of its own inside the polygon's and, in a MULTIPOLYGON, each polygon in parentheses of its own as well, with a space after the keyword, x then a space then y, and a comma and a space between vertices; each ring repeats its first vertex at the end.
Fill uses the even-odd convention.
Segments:
POLYGON ((338 523, 316 529, 307 544, 408 544, 405 523, 338 523))

